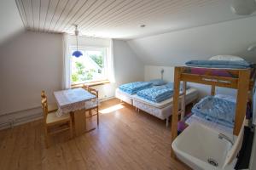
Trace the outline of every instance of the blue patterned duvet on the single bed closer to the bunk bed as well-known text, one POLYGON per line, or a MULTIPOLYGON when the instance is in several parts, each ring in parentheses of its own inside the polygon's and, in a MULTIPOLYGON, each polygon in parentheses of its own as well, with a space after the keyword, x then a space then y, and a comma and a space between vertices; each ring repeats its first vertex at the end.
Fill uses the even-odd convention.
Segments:
POLYGON ((172 98, 173 88, 166 86, 147 88, 137 92, 137 95, 143 99, 148 99, 153 102, 161 102, 166 99, 172 98))

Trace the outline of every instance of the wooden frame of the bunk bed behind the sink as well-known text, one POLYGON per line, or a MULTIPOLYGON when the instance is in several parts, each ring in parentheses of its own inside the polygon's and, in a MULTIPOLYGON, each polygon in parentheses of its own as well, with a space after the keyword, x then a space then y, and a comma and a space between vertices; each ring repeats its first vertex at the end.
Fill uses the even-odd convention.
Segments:
MULTIPOLYGON (((233 134, 238 135, 243 119, 247 111, 247 101, 251 99, 248 93, 252 91, 255 82, 255 69, 215 69, 215 68, 199 68, 189 66, 175 67, 174 74, 174 95, 172 107, 172 142, 177 137, 177 122, 178 116, 181 115, 183 119, 185 113, 185 96, 186 96, 186 82, 195 82, 210 85, 211 95, 215 94, 216 87, 234 88, 237 89, 236 97, 236 117, 233 134), (193 69, 198 69, 198 72, 193 72, 193 69), (216 74, 218 72, 228 73, 216 74), (183 81, 183 93, 179 94, 180 82, 183 81), (178 99, 181 97, 181 109, 178 109, 178 99)), ((175 158, 175 153, 171 150, 171 156, 175 158)))

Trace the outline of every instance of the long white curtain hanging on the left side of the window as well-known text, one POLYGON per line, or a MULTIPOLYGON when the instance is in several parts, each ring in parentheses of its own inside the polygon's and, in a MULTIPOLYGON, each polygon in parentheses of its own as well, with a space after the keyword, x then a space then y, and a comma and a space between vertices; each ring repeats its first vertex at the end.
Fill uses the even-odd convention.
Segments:
POLYGON ((67 33, 63 34, 63 67, 62 67, 62 88, 71 88, 70 75, 71 75, 71 65, 70 65, 70 54, 69 54, 69 36, 67 33))

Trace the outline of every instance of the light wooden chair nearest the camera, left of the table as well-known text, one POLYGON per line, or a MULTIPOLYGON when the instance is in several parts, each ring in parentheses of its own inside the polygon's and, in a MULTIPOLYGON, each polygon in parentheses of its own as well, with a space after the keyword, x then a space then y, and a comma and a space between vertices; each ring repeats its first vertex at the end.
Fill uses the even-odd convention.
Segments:
POLYGON ((41 99, 41 105, 44 114, 44 133, 45 133, 45 145, 49 147, 49 135, 61 133, 69 130, 70 138, 73 138, 73 125, 72 118, 69 114, 56 116, 56 112, 48 111, 47 98, 41 99))

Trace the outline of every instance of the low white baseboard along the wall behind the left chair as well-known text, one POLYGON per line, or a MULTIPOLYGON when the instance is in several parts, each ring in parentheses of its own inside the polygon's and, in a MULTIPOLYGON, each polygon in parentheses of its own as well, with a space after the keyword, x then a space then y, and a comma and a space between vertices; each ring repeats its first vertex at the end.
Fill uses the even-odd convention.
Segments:
POLYGON ((32 108, 25 111, 15 111, 0 116, 0 129, 15 127, 26 122, 32 122, 43 118, 42 108, 32 108))

